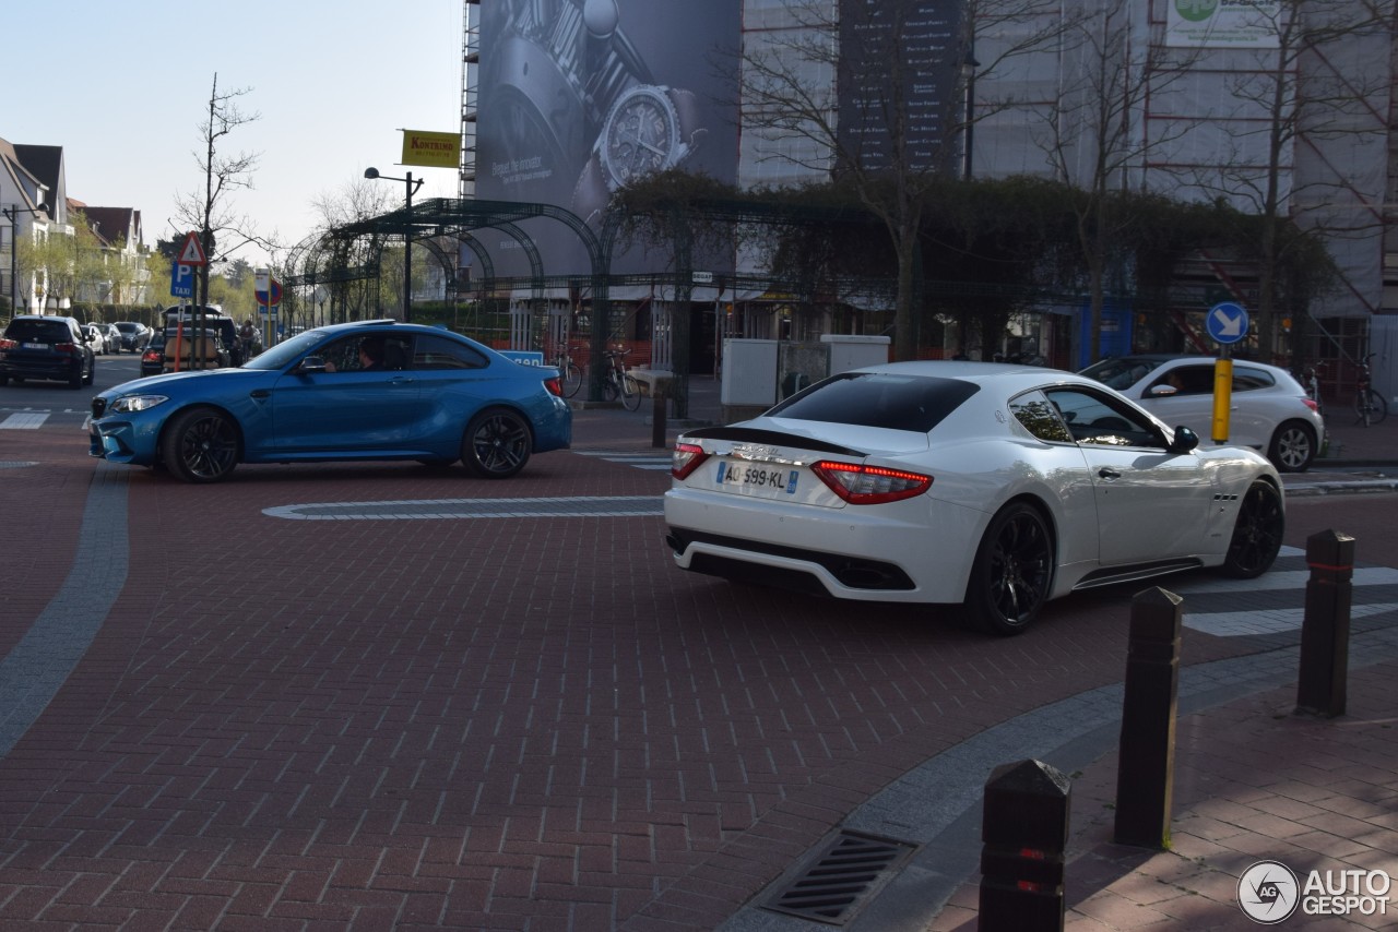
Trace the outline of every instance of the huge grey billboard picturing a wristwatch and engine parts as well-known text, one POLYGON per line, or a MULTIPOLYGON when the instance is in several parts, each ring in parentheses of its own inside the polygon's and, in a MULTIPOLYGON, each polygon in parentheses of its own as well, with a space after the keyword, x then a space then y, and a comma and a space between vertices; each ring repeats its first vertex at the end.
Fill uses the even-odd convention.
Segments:
MULTIPOLYGON (((594 229, 611 191, 668 168, 737 177, 741 0, 495 0, 481 4, 477 196, 566 207, 594 229)), ((587 272, 554 221, 526 232, 547 274, 587 272)), ((512 238, 478 238, 527 275, 512 238)), ((642 250, 614 271, 664 265, 642 250)))

